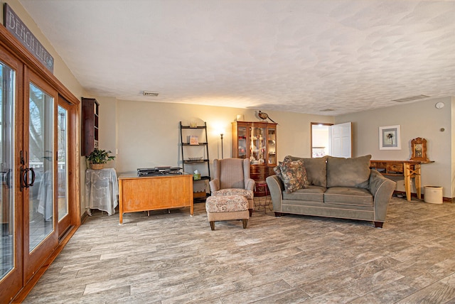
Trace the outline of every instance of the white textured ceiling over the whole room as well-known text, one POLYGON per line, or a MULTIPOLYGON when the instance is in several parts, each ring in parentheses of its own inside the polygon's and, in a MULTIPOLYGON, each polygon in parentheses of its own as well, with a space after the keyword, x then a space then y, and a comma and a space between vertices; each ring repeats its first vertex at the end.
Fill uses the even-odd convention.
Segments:
POLYGON ((19 1, 99 96, 336 115, 455 95, 455 1, 19 1))

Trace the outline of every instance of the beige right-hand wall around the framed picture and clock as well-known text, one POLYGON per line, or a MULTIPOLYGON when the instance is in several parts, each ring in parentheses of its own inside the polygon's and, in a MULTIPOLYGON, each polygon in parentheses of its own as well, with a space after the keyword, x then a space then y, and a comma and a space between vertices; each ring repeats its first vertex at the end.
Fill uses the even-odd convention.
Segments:
MULTIPOLYGON (((353 156, 371 154, 376 160, 409 160, 411 140, 416 137, 427 139, 427 156, 434 163, 422 165, 422 188, 424 185, 441 186, 444 197, 454 197, 454 160, 451 156, 454 118, 452 99, 446 97, 341 115, 335 120, 337 124, 353 122, 353 156), (445 107, 437 109, 434 107, 437 102, 444 102, 445 107), (394 125, 401 126, 401 150, 380 150, 379 127, 394 125), (444 131, 440 131, 441 128, 444 131)), ((397 190, 404 191, 404 181, 394 180, 398 183, 397 190)))

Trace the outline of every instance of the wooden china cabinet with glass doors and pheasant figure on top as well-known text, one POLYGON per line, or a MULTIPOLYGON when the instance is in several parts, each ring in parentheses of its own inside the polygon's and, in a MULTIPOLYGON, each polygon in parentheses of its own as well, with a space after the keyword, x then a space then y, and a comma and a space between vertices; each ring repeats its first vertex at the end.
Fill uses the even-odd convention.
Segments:
MULTIPOLYGON (((263 121, 232 122, 232 157, 250 159, 250 177, 259 182, 274 175, 277 165, 277 124, 263 121)), ((255 196, 266 195, 256 187, 255 196)))

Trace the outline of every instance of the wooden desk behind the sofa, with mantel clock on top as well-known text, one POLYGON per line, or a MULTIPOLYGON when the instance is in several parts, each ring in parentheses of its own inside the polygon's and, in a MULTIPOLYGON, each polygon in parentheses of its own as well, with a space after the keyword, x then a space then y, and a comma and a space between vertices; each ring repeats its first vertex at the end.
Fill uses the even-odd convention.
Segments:
POLYGON ((370 168, 378 170, 382 175, 404 176, 407 200, 411 200, 411 178, 414 178, 417 198, 420 200, 422 198, 421 163, 421 161, 370 161, 370 168))

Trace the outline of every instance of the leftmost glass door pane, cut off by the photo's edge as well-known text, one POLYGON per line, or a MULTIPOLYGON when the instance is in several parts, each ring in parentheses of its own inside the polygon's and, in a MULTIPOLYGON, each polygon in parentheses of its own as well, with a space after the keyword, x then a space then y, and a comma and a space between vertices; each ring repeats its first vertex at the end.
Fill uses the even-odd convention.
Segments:
POLYGON ((0 280, 13 270, 14 249, 14 87, 15 72, 0 63, 0 280))

